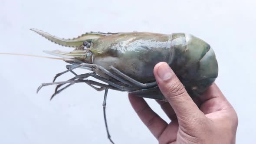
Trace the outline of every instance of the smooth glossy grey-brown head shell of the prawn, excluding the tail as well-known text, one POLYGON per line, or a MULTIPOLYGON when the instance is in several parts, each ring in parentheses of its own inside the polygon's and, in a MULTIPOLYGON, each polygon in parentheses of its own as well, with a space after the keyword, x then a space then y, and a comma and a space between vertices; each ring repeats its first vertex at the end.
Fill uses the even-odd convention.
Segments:
POLYGON ((118 33, 96 39, 90 49, 97 50, 93 52, 93 64, 105 69, 112 65, 131 78, 148 83, 155 81, 154 65, 170 59, 171 36, 143 32, 118 33))

